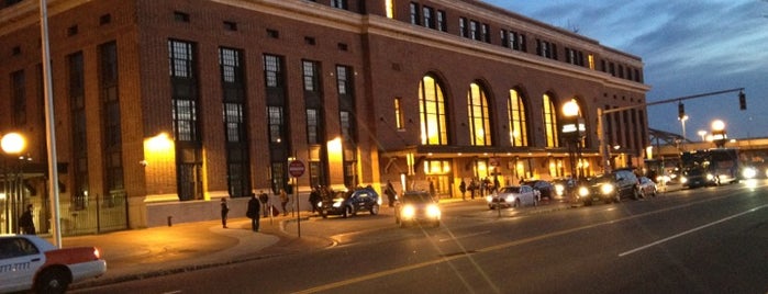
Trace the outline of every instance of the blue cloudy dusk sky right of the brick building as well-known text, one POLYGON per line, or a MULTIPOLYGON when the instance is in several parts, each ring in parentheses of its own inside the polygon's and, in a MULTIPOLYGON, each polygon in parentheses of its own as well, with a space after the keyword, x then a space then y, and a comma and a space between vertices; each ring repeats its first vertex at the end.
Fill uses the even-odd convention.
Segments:
MULTIPOLYGON (((768 137, 768 0, 485 0, 643 58, 648 102, 745 88, 683 101, 686 137, 711 122, 730 138, 768 137)), ((682 133, 677 104, 648 106, 650 128, 682 133)))

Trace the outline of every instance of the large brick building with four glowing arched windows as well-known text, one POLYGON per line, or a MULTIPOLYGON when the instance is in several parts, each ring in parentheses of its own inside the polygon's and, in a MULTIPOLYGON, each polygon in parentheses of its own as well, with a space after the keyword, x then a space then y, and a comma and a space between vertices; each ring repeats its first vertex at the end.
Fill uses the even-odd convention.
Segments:
MULTIPOLYGON (((258 191, 594 174, 599 109, 649 89, 639 57, 481 1, 48 3, 65 234, 213 219, 258 191)), ((38 22, 37 1, 0 3, 0 133, 44 165, 38 22)), ((610 163, 642 165, 645 109, 602 124, 610 163)), ((44 174, 22 173, 15 205, 45 215, 44 174)))

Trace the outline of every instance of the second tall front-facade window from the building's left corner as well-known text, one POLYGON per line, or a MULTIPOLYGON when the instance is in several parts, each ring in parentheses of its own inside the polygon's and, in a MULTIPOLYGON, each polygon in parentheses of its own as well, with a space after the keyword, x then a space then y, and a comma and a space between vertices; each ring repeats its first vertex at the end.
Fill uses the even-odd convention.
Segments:
POLYGON ((224 135, 226 138, 226 184, 231 197, 251 194, 251 162, 245 114, 245 70, 240 49, 219 48, 224 135))

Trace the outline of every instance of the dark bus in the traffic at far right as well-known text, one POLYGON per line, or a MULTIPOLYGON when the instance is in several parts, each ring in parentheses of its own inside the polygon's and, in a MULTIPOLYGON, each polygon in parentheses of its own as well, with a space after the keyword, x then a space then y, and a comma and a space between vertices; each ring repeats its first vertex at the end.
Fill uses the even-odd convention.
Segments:
POLYGON ((689 188, 737 183, 741 179, 738 149, 714 148, 680 155, 682 184, 689 188))

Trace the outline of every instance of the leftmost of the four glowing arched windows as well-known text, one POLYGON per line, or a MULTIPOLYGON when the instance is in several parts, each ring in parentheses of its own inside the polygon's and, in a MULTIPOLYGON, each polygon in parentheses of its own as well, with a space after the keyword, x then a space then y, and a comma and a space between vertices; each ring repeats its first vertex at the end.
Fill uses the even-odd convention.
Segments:
POLYGON ((419 83, 419 115, 421 144, 448 145, 443 89, 431 76, 424 76, 419 83))

